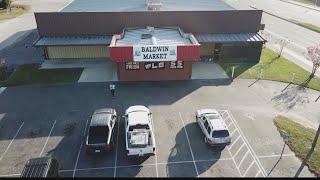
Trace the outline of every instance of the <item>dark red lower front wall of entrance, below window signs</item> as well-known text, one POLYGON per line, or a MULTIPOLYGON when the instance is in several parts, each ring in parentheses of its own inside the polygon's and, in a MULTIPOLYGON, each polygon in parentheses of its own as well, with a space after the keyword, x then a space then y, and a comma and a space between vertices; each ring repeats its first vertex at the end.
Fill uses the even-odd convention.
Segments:
POLYGON ((187 80, 191 78, 192 62, 184 62, 183 69, 170 69, 170 62, 165 62, 164 69, 144 68, 144 63, 139 63, 139 70, 126 70, 126 63, 117 63, 118 79, 120 81, 163 81, 187 80))

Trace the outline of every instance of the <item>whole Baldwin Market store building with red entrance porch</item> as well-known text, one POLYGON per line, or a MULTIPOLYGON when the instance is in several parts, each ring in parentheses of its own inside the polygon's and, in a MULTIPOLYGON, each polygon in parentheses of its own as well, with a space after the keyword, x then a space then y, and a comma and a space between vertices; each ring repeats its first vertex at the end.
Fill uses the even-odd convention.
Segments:
POLYGON ((220 0, 74 0, 35 13, 35 46, 45 62, 108 62, 120 81, 185 80, 208 63, 258 62, 261 16, 220 0))

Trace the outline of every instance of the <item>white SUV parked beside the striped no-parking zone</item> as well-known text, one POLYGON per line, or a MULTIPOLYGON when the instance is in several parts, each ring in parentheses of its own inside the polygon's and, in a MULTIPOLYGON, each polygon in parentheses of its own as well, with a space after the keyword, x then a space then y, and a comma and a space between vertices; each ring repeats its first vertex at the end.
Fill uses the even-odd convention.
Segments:
POLYGON ((227 125, 215 109, 201 109, 196 112, 197 122, 209 145, 229 145, 231 136, 227 125))

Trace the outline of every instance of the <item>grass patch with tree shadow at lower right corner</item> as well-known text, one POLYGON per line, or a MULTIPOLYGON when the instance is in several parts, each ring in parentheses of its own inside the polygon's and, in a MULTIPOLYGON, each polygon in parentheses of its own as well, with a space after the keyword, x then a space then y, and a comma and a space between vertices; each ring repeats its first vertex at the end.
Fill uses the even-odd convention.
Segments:
MULTIPOLYGON (((291 141, 288 144, 290 149, 296 156, 304 159, 311 148, 316 131, 314 129, 306 128, 283 116, 277 116, 274 119, 274 123, 280 132, 281 130, 284 130, 291 136, 291 141)), ((318 140, 316 148, 307 162, 307 165, 312 172, 318 176, 320 175, 320 140, 318 140)))

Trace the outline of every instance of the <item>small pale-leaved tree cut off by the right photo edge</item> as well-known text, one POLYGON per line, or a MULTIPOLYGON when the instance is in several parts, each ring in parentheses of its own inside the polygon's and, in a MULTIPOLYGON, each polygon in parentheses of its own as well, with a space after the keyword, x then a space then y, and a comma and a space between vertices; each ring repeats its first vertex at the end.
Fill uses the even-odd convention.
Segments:
POLYGON ((308 85, 320 67, 320 44, 307 48, 307 58, 312 61, 312 71, 309 77, 302 83, 303 86, 308 85))

